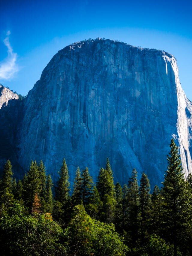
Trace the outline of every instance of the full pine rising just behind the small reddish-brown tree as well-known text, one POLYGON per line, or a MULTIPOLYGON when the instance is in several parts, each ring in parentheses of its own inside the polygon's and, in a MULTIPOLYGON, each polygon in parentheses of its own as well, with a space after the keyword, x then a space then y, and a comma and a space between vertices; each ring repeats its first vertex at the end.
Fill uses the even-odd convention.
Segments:
POLYGON ((23 189, 24 189, 24 202, 29 210, 32 210, 32 205, 35 199, 35 194, 40 194, 41 180, 39 177, 39 169, 36 161, 31 161, 31 165, 27 176, 24 176, 23 189))

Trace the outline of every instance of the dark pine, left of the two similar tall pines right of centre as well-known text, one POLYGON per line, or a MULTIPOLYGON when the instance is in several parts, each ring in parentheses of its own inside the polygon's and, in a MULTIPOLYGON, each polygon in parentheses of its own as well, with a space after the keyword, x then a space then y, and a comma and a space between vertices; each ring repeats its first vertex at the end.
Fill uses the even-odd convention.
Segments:
POLYGON ((133 169, 132 175, 128 181, 127 191, 127 219, 126 219, 126 231, 130 236, 130 244, 132 246, 138 239, 140 230, 140 212, 139 212, 139 186, 137 181, 137 170, 133 169))

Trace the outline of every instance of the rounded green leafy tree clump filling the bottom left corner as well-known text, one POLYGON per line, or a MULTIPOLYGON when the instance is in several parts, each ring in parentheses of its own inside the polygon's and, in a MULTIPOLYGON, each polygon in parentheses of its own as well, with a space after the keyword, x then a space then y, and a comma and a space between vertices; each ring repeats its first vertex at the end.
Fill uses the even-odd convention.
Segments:
POLYGON ((49 216, 35 218, 15 203, 0 222, 2 255, 64 255, 62 229, 49 216), (42 254, 43 252, 43 254, 42 254))

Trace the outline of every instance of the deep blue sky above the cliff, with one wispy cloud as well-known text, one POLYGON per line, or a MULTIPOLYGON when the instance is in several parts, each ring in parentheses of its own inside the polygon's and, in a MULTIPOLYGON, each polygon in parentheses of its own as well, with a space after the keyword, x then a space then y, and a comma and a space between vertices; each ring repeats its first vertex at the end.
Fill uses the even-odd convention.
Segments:
POLYGON ((0 1, 0 83, 26 95, 58 50, 109 38, 173 54, 192 100, 191 1, 0 1))

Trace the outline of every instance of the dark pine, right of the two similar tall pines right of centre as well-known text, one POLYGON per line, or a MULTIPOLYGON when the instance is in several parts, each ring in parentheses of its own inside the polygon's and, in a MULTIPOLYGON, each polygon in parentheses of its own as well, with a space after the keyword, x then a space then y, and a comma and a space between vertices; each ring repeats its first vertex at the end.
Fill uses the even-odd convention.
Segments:
POLYGON ((140 229, 142 233, 142 238, 147 236, 149 233, 149 221, 151 217, 151 194, 150 194, 150 184, 147 175, 143 172, 140 180, 140 229))

